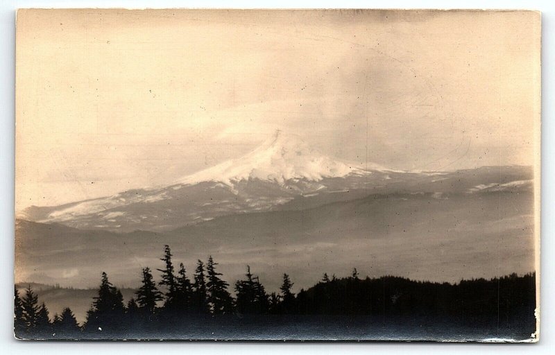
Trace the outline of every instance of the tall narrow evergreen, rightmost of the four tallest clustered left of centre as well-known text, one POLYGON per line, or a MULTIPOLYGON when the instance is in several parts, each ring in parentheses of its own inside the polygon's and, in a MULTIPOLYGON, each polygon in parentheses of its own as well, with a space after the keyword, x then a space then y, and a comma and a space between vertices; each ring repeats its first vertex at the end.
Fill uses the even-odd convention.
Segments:
POLYGON ((229 284, 220 278, 220 272, 216 272, 216 265, 212 256, 208 259, 207 272, 207 300, 212 313, 227 314, 233 312, 233 299, 228 292, 229 284))

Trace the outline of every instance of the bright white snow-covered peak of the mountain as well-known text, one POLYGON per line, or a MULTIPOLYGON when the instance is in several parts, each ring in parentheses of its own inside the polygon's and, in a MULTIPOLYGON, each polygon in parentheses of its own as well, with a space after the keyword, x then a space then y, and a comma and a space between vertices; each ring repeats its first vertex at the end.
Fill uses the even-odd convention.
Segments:
POLYGON ((232 185, 241 180, 258 179, 284 184, 291 179, 320 181, 342 178, 350 173, 365 173, 361 168, 332 159, 311 148, 296 135, 279 131, 255 150, 243 157, 198 171, 176 181, 176 184, 196 184, 215 181, 232 185))

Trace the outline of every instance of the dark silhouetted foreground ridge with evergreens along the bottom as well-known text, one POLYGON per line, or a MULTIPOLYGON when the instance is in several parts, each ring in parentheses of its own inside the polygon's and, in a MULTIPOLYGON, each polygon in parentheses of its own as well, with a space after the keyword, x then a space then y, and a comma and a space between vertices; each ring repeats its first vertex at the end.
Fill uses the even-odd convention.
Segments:
POLYGON ((15 291, 15 336, 35 340, 531 340, 536 331, 536 274, 416 282, 402 277, 323 275, 294 294, 284 274, 280 293, 266 293, 250 272, 234 285, 210 257, 192 279, 176 272, 166 246, 160 282, 144 268, 142 286, 125 304, 102 273, 98 295, 79 325, 71 309, 53 320, 29 286, 15 291), (162 292, 163 291, 163 292, 162 292))

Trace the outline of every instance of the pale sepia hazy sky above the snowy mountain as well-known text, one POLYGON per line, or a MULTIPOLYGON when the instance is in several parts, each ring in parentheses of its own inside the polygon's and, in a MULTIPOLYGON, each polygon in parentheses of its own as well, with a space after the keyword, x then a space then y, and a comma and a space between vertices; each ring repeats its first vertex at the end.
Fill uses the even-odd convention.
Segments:
POLYGON ((276 129, 391 168, 531 165, 538 19, 20 10, 17 209, 171 182, 276 129))

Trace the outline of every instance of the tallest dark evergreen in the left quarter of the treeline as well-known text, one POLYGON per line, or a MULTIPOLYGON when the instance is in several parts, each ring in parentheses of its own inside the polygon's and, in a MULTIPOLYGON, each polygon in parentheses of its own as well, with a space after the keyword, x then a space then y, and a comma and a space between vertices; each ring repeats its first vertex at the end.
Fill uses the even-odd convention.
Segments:
POLYGON ((109 281, 106 272, 102 272, 98 296, 93 298, 92 306, 87 311, 87 320, 83 327, 87 331, 112 331, 121 327, 125 315, 123 296, 109 281))

